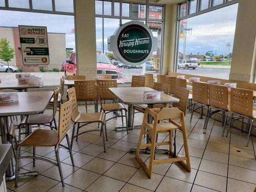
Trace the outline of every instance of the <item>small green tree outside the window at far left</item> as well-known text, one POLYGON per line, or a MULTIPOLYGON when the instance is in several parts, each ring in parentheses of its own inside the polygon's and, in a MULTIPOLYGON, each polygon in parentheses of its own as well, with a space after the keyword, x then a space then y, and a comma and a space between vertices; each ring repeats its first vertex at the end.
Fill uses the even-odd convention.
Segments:
POLYGON ((10 72, 9 69, 9 61, 11 61, 14 58, 14 48, 10 47, 10 41, 7 41, 7 38, 1 38, 0 39, 0 59, 7 61, 8 65, 8 72, 10 72))

